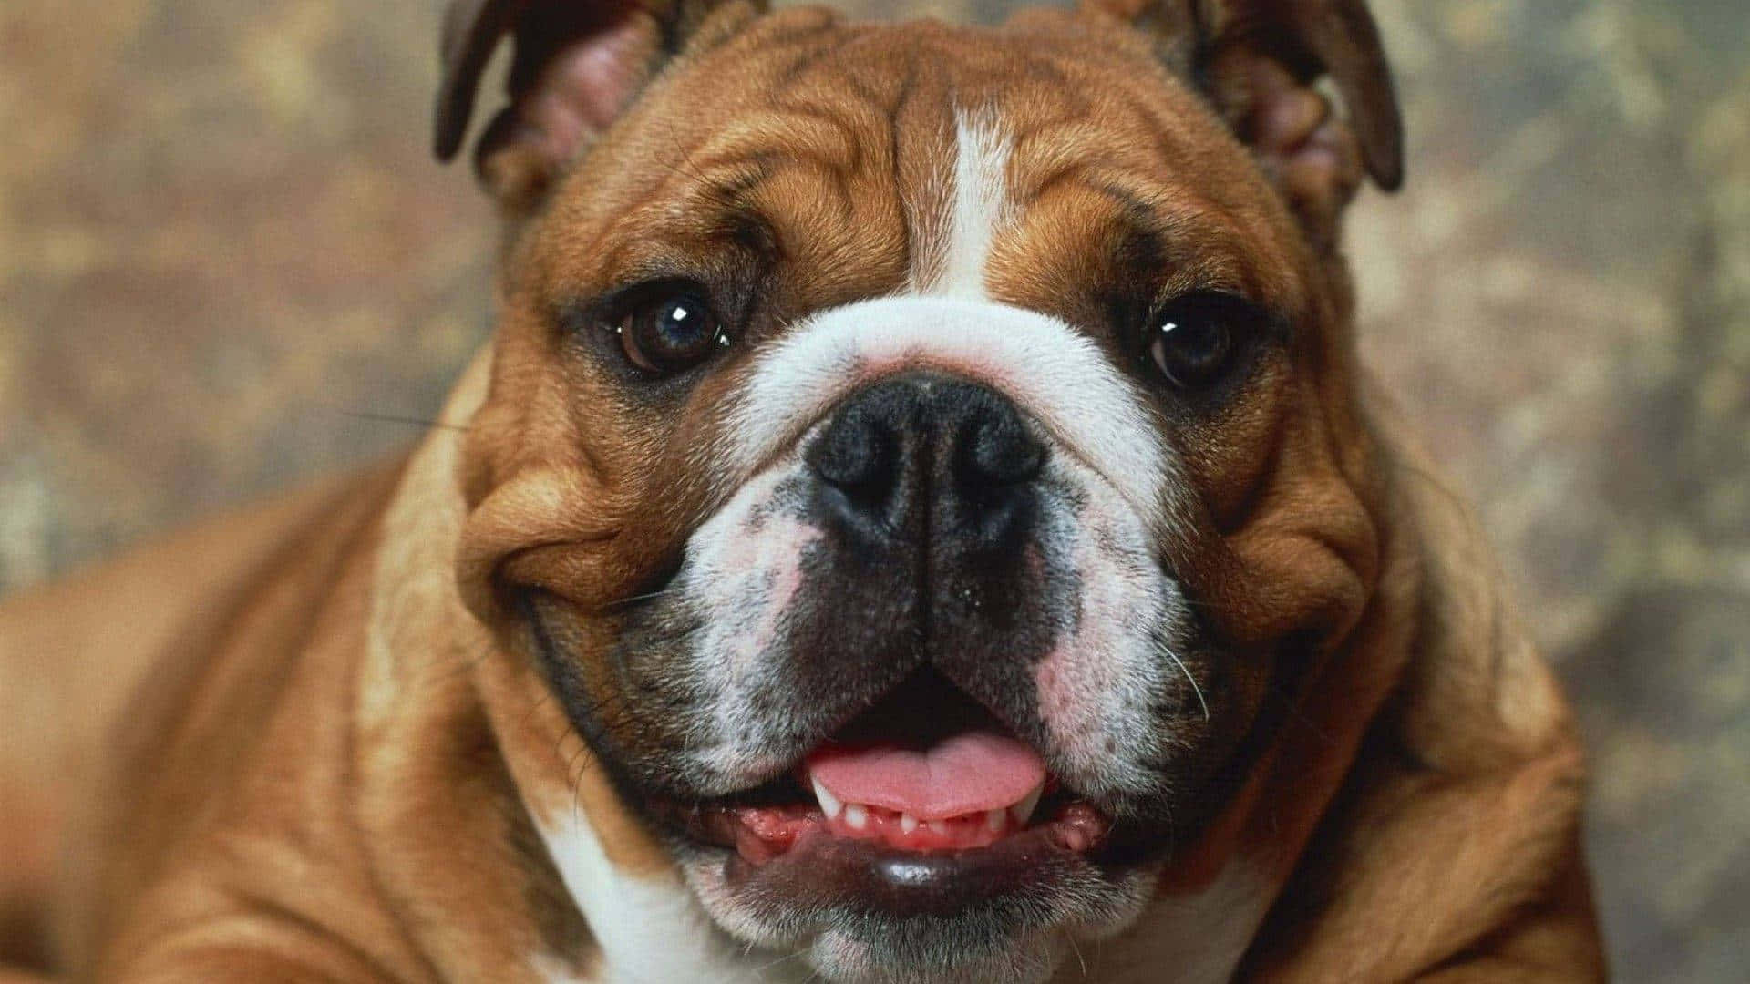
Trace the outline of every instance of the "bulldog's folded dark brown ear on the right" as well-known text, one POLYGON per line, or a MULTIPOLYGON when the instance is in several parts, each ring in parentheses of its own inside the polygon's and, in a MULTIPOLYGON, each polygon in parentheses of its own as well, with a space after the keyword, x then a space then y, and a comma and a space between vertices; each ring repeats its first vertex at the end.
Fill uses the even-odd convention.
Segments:
POLYGON ((1144 32, 1248 144, 1314 233, 1332 233, 1363 170, 1404 180, 1404 123, 1365 0, 1083 0, 1144 32), (1339 119, 1314 88, 1328 75, 1339 119))

